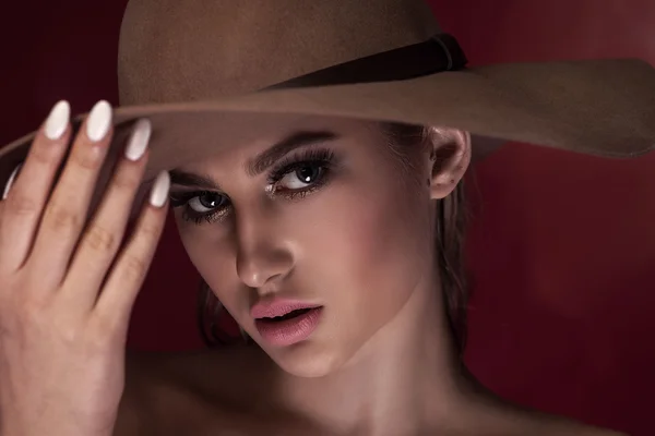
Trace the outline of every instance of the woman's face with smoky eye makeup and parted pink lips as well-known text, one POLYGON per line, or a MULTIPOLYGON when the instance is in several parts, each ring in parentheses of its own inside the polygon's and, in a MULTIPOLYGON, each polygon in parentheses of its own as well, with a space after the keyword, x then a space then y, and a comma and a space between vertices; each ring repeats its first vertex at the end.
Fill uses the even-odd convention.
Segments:
POLYGON ((192 263, 289 373, 345 364, 432 272, 430 150, 409 146, 408 168, 389 141, 379 124, 314 119, 171 172, 192 263))

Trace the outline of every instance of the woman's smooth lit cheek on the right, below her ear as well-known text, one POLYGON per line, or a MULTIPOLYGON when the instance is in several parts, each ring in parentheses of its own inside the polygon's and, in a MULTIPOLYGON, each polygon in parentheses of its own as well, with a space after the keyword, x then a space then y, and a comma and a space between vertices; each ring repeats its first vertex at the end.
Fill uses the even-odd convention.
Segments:
POLYGON ((321 215, 310 220, 320 233, 308 235, 305 262, 344 328, 379 328, 426 274, 429 199, 419 194, 379 181, 335 186, 321 198, 321 215))

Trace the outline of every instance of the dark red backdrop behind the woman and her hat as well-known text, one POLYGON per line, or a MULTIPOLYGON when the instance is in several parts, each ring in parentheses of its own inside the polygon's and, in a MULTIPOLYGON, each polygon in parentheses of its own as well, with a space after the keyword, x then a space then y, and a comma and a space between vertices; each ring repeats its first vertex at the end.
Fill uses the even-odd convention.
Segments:
MULTIPOLYGON (((117 102, 126 0, 7 0, 0 144, 67 98, 117 102)), ((655 63, 652 0, 433 0, 473 64, 638 56, 655 63), (600 5, 603 3, 603 5, 600 5)), ((500 395, 655 434, 655 154, 614 161, 510 145, 475 168, 476 281, 467 362, 500 395)), ((201 347, 195 272, 175 227, 138 301, 131 346, 201 347)))

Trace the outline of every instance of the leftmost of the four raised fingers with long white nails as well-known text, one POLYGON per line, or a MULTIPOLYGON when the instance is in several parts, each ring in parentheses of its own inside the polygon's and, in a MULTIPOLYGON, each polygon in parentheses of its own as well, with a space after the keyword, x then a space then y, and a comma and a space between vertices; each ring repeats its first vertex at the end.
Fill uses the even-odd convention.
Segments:
POLYGON ((0 266, 15 270, 29 253, 38 221, 71 136, 71 108, 59 101, 37 132, 22 166, 4 186, 0 223, 0 266), (19 175, 20 171, 20 177, 19 175))

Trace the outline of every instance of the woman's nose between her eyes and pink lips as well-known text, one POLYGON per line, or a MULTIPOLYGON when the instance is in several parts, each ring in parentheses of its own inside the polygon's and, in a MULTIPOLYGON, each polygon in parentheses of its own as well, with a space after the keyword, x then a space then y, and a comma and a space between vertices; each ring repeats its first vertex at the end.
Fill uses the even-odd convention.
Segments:
POLYGON ((237 220, 237 274, 250 288, 286 277, 294 267, 288 240, 274 217, 265 214, 237 220))

